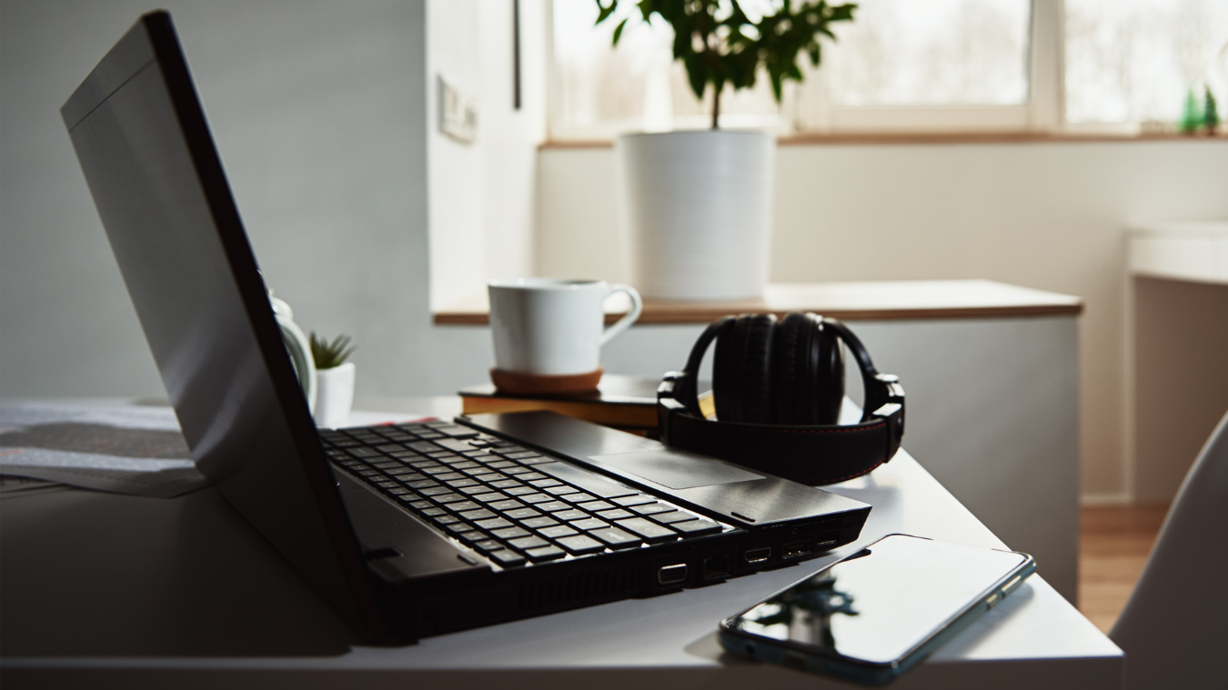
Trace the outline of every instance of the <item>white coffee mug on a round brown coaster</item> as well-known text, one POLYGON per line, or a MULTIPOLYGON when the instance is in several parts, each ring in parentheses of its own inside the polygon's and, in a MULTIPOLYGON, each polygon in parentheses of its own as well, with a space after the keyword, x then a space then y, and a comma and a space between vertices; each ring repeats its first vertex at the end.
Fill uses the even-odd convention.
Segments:
POLYGON ((634 287, 604 280, 518 277, 494 280, 489 290, 495 367, 505 372, 569 376, 597 371, 602 346, 643 311, 634 287), (631 298, 631 311, 603 329, 603 306, 615 292, 631 298))

